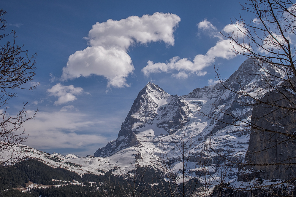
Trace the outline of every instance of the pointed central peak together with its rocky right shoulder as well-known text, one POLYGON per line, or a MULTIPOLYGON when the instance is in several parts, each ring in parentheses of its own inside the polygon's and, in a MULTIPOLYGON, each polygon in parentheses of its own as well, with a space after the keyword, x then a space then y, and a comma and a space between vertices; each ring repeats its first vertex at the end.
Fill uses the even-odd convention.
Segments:
POLYGON ((181 97, 169 95, 156 84, 148 83, 134 100, 131 110, 121 125, 116 140, 98 149, 95 157, 111 156, 119 150, 140 145, 136 134, 138 129, 153 124, 173 133, 189 121, 189 107, 181 97))

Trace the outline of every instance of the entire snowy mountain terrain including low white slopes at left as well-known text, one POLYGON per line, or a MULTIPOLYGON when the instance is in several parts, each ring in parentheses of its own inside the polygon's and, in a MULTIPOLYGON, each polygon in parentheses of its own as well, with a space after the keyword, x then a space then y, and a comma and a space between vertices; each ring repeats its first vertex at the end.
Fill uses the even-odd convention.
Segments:
MULTIPOLYGON (((285 77, 271 65, 264 66, 273 70, 275 75, 285 77)), ((258 113, 267 112, 262 110, 262 106, 243 105, 252 101, 237 92, 242 88, 250 90, 256 87, 253 97, 257 99, 267 99, 264 97, 266 94, 277 95, 265 89, 264 84, 260 85, 262 75, 257 72, 252 59, 243 62, 229 79, 222 82, 234 91, 218 83, 178 96, 148 83, 134 100, 117 139, 96 150, 94 156, 49 155, 23 145, 15 149, 26 150, 30 157, 39 158, 48 165, 61 166, 81 174, 102 174, 109 170, 113 174, 125 174, 135 165, 149 166, 163 172, 167 180, 172 180, 173 174, 178 183, 194 178, 208 192, 222 183, 239 188, 256 184, 258 178, 262 180, 261 184, 266 185, 271 180, 276 184, 286 180, 286 177, 295 179, 295 137, 289 138, 292 139, 289 143, 282 136, 267 139, 267 134, 261 133, 260 136, 254 129, 245 127, 254 121, 269 124, 266 119, 254 119, 258 113), (283 141, 278 147, 277 139, 283 141), (262 140, 271 140, 273 144, 264 142, 261 145, 262 140), (263 146, 276 147, 276 150, 256 154, 258 147, 263 146), (280 155, 280 160, 294 158, 287 161, 293 165, 285 165, 285 168, 275 172, 272 167, 263 169, 254 163, 254 160, 279 158, 280 155), (254 166, 240 165, 249 162, 254 166), (254 176, 251 177, 251 174, 254 176)), ((289 92, 288 89, 285 91, 289 92)), ((293 99, 295 103, 295 95, 293 99)), ((295 135, 293 115, 288 115, 287 121, 294 123, 285 123, 281 128, 291 135, 295 135)))

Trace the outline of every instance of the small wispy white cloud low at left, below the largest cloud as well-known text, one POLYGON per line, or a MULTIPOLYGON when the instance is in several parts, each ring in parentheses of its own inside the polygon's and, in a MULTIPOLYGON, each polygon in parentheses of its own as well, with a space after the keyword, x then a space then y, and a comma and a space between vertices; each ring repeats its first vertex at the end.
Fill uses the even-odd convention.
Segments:
POLYGON ((77 100, 75 95, 83 93, 83 88, 74 87, 73 85, 64 86, 60 83, 54 85, 50 89, 47 89, 50 95, 58 97, 58 100, 54 102, 55 105, 61 105, 70 101, 77 100))

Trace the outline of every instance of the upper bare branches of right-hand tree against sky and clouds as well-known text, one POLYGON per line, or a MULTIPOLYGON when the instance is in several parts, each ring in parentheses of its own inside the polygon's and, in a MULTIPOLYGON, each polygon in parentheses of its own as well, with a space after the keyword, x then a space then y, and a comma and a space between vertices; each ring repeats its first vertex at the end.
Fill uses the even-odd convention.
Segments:
POLYGON ((286 78, 263 71, 277 80, 287 81, 295 92, 295 79, 294 83, 291 80, 295 78, 295 4, 292 1, 250 1, 242 7, 255 18, 250 23, 241 15, 232 20, 236 29, 231 34, 224 34, 231 40, 232 51, 258 60, 258 63, 276 66, 286 78))

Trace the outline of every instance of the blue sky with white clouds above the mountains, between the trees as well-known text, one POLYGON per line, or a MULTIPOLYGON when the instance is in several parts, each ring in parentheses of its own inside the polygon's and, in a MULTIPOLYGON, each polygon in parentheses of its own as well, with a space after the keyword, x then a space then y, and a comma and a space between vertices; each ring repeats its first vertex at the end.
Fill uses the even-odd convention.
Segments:
MULTIPOLYGON (((24 144, 86 156, 115 140, 138 92, 153 82, 171 95, 214 83, 213 59, 228 78, 245 57, 221 36, 239 1, 1 1, 7 31, 37 53, 34 91, 17 90, 37 117, 24 144)), ((2 33, 2 32, 1 32, 2 33)), ((1 45, 4 41, 1 40, 1 45)), ((28 84, 29 86, 30 84, 28 84)), ((1 109, 3 110, 3 109, 1 109)))

